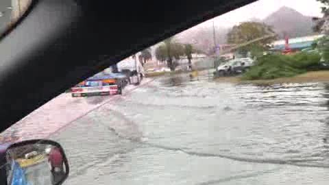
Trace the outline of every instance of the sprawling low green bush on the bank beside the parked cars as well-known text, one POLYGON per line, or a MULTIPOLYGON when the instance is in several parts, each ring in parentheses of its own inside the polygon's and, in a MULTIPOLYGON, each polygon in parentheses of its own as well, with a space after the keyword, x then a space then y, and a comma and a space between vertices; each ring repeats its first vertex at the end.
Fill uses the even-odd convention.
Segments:
POLYGON ((274 79, 292 77, 316 69, 321 57, 318 53, 296 53, 291 56, 279 54, 260 56, 243 79, 274 79))

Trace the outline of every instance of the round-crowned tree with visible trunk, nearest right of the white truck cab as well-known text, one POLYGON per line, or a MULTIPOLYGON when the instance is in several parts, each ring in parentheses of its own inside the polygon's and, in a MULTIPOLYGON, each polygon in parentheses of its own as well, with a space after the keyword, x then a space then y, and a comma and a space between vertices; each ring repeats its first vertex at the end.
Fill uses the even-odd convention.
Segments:
POLYGON ((175 71, 176 64, 173 61, 179 60, 180 56, 184 55, 184 47, 173 40, 167 38, 156 48, 156 58, 160 61, 167 61, 167 66, 171 71, 175 71))

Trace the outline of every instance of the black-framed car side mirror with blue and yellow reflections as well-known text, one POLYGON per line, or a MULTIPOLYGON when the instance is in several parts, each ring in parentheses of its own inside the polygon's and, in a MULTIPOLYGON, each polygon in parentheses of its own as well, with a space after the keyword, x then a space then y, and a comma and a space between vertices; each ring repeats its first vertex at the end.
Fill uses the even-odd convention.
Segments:
POLYGON ((8 185, 60 185, 69 176, 69 163, 59 143, 25 140, 5 151, 8 185))

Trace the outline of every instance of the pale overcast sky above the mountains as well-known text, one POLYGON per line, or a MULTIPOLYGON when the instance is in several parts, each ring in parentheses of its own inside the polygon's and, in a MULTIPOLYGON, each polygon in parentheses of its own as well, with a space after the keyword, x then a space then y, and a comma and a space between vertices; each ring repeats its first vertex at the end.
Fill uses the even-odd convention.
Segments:
MULTIPOLYGON (((252 18, 266 18, 282 6, 293 8, 306 16, 321 16, 322 4, 316 0, 260 0, 217 16, 214 20, 216 25, 221 25, 221 27, 232 27, 232 25, 249 21, 252 18)), ((210 23, 212 20, 206 21, 204 25, 210 23)))

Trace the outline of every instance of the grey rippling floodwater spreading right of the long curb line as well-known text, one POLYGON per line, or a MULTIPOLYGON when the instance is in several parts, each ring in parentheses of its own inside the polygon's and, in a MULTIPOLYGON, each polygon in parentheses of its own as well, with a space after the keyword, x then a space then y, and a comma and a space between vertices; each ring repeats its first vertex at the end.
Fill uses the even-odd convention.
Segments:
POLYGON ((64 184, 328 184, 328 110, 325 83, 239 85, 183 74, 103 103, 50 138, 69 158, 64 184))

